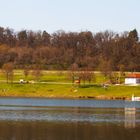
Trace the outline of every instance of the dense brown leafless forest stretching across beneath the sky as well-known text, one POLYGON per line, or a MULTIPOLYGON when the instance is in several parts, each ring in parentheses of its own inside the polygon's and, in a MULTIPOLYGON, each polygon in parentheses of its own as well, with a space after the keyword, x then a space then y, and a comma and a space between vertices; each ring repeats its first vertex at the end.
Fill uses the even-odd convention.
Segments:
POLYGON ((0 67, 13 63, 14 68, 39 65, 43 69, 140 71, 140 43, 137 30, 121 34, 57 31, 14 32, 0 27, 0 67))

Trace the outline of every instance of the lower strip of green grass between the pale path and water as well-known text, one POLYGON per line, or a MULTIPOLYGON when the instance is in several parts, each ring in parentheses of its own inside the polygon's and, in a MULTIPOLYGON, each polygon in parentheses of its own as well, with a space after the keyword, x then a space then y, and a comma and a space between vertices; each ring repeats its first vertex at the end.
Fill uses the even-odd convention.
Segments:
POLYGON ((129 99, 132 94, 140 95, 140 86, 100 85, 72 86, 70 84, 4 84, 0 85, 0 96, 11 97, 54 97, 54 98, 99 98, 129 99))

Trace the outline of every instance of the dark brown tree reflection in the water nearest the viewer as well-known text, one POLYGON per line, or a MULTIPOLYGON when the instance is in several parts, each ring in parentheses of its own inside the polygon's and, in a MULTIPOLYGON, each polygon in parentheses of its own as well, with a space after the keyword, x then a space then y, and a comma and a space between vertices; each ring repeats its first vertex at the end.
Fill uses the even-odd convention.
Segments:
POLYGON ((88 122, 0 122, 0 140, 138 140, 140 127, 88 122))

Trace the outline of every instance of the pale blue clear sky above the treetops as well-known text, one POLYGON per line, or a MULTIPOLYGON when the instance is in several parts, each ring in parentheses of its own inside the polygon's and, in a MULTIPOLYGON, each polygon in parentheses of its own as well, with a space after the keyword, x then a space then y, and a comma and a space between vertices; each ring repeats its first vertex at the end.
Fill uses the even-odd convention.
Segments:
POLYGON ((15 31, 140 32, 140 0, 0 0, 0 26, 15 31))

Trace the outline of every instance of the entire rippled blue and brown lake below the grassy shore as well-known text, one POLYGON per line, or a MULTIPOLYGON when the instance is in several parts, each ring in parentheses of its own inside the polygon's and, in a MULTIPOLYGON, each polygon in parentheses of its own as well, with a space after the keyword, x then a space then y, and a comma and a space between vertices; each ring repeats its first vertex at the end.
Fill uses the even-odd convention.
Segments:
POLYGON ((140 139, 140 102, 0 98, 0 140, 118 139, 140 139))

